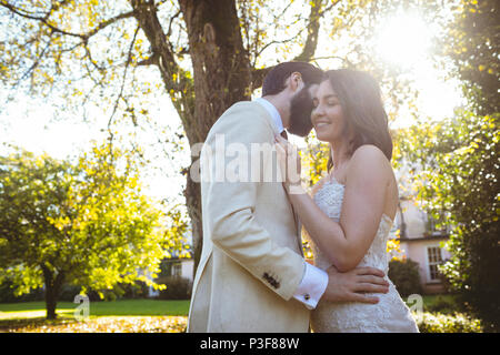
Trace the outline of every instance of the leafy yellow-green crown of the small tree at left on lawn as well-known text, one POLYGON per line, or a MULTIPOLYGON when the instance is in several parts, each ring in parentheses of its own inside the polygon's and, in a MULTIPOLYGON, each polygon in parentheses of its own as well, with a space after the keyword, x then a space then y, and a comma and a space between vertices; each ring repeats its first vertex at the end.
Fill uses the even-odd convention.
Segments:
POLYGON ((17 295, 44 284, 54 301, 63 283, 101 298, 118 283, 159 287, 146 273, 156 277, 164 250, 183 241, 167 220, 141 194, 130 156, 109 145, 77 164, 24 151, 0 158, 0 281, 17 295))

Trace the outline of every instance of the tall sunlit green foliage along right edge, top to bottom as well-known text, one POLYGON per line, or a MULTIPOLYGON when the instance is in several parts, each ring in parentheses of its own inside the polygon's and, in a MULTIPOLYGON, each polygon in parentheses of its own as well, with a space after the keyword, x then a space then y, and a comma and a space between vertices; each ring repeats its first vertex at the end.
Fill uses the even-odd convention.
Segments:
POLYGON ((398 134, 414 173, 416 197, 453 226, 441 267, 487 328, 500 329, 500 153, 498 1, 458 1, 443 53, 463 82, 468 111, 398 134))

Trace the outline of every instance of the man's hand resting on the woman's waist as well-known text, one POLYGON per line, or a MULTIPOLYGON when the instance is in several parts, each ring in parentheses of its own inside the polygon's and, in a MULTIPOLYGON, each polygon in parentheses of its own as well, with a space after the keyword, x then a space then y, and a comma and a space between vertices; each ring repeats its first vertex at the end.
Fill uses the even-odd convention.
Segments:
POLYGON ((334 266, 327 270, 328 286, 322 300, 330 302, 361 302, 376 304, 379 298, 366 293, 388 293, 389 283, 381 270, 357 267, 341 273, 334 266))

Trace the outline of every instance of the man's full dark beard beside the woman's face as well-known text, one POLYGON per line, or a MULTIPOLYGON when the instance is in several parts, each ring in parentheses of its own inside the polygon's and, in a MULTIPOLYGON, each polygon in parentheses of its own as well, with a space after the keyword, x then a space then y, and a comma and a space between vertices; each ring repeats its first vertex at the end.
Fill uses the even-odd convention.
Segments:
POLYGON ((312 130, 312 98, 308 87, 300 90, 290 103, 290 126, 288 132, 306 136, 312 130))

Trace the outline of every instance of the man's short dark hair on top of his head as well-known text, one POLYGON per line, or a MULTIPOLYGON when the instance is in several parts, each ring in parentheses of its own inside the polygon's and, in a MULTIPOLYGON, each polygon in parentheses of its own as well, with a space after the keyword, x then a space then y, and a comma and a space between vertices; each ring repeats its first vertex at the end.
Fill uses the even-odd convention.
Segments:
POLYGON ((323 78, 323 71, 306 62, 284 62, 276 65, 266 75, 262 84, 262 97, 276 95, 287 88, 286 80, 294 72, 302 75, 306 85, 319 84, 323 78))

